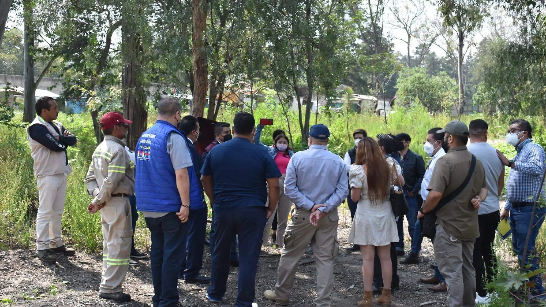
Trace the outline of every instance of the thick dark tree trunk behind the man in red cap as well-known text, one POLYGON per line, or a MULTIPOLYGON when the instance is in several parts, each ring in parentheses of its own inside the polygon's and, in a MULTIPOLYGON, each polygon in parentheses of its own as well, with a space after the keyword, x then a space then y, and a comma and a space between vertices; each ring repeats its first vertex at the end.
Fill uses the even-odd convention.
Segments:
MULTIPOLYGON (((138 14, 141 14, 139 12, 138 14)), ((127 16, 124 16, 127 17, 127 16)), ((142 46, 138 33, 128 23, 132 21, 123 20, 121 31, 124 42, 122 44, 123 70, 121 75, 121 86, 123 90, 123 115, 126 119, 133 121, 127 132, 127 146, 134 150, 140 135, 146 131, 148 113, 146 109, 146 91, 144 90, 141 76, 138 75, 136 67, 143 66, 142 46)))

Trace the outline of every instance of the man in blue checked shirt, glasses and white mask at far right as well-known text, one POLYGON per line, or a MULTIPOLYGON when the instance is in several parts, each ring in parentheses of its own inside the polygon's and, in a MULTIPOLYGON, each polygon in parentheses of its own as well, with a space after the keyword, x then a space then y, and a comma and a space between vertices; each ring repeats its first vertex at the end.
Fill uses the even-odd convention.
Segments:
MULTIPOLYGON (((511 168, 506 185, 506 205, 501 211, 501 219, 506 219, 510 215, 513 249, 518 253, 519 261, 524 261, 529 271, 535 271, 539 269, 535 240, 544 221, 544 214, 546 214, 544 189, 539 195, 542 176, 544 175, 545 157, 544 149, 531 139, 531 132, 532 128, 528 121, 513 120, 506 133, 506 141, 508 144, 515 146, 517 155, 512 160, 508 160, 498 150, 497 155, 505 166, 511 168), (538 202, 538 208, 535 216, 532 216, 535 201, 538 202), (525 239, 530 223, 532 223, 533 227, 527 252, 525 253, 526 256, 523 259, 525 239)), ((541 274, 531 277, 530 281, 535 284, 532 288, 533 294, 544 293, 541 274)))

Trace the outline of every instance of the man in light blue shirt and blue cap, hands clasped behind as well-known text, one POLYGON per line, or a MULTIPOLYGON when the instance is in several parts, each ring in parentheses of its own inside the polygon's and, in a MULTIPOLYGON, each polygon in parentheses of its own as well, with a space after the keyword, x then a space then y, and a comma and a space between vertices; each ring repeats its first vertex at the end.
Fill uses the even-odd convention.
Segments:
POLYGON ((328 127, 311 127, 308 150, 296 152, 286 170, 284 193, 296 209, 284 234, 275 290, 264 296, 281 305, 289 303, 298 263, 309 243, 317 263, 317 307, 331 305, 337 243, 337 207, 348 194, 348 178, 341 157, 328 151, 328 127))

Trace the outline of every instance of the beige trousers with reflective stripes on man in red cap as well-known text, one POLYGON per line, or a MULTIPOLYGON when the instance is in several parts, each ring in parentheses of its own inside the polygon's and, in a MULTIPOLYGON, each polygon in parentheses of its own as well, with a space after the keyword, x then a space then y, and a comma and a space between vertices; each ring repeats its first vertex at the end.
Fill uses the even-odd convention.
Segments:
POLYGON ((99 291, 121 292, 129 269, 133 228, 128 197, 112 197, 100 210, 103 230, 103 271, 99 291))

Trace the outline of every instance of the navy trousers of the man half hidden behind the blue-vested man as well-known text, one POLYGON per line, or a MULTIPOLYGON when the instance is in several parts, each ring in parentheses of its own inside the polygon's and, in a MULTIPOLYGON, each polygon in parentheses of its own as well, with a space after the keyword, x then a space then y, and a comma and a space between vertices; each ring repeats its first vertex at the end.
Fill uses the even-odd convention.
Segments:
POLYGON ((187 241, 186 252, 182 256, 180 276, 184 279, 195 279, 203 267, 203 250, 206 235, 206 206, 201 209, 189 210, 186 222, 187 241))

